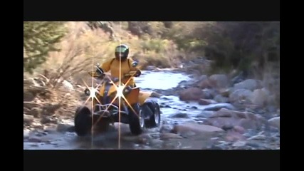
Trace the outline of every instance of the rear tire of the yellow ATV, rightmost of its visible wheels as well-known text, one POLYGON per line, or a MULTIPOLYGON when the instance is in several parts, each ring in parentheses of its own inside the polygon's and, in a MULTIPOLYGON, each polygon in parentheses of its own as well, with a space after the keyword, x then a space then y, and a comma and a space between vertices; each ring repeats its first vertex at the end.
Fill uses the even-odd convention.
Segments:
POLYGON ((147 105, 153 112, 153 115, 151 115, 150 119, 147 120, 147 122, 146 122, 147 127, 148 128, 159 127, 160 122, 161 122, 159 104, 157 102, 152 102, 152 103, 148 103, 147 105))

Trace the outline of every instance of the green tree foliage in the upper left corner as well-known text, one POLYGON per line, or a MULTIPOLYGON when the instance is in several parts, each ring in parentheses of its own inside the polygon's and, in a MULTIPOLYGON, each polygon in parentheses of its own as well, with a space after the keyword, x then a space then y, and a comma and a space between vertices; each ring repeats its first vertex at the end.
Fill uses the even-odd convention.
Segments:
POLYGON ((65 36, 65 22, 24 21, 23 22, 23 69, 33 73, 33 69, 44 63, 51 51, 60 51, 56 43, 65 36))

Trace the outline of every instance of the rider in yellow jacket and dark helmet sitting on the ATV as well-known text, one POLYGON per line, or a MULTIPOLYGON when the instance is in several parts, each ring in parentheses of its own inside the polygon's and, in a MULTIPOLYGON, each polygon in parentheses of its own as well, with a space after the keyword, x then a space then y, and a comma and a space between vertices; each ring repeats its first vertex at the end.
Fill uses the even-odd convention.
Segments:
MULTIPOLYGON (((112 58, 108 61, 105 61, 100 68, 103 69, 104 72, 111 72, 111 76, 119 78, 121 76, 122 83, 126 83, 129 78, 123 78, 125 73, 129 73, 130 71, 137 71, 135 73, 135 77, 141 75, 141 71, 139 68, 132 66, 134 62, 132 58, 128 58, 129 55, 129 47, 125 44, 120 44, 115 48, 115 58, 112 58), (121 62, 121 65, 120 65, 121 62), (121 68, 120 68, 121 66, 121 68), (121 73, 121 75, 120 75, 121 73)), ((131 77, 130 81, 127 83, 127 86, 135 87, 134 78, 131 77)))

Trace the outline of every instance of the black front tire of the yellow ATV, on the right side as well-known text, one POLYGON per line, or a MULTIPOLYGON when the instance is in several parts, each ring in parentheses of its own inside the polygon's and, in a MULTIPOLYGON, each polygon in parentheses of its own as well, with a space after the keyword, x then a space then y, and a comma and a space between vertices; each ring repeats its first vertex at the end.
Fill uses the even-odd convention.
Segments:
MULTIPOLYGON (((133 135, 140 135, 142 133, 142 128, 144 125, 140 124, 140 106, 132 105, 132 108, 135 110, 136 113, 130 109, 130 113, 128 115, 129 118, 129 128, 133 135)), ((145 122, 143 122, 145 123, 145 122)))

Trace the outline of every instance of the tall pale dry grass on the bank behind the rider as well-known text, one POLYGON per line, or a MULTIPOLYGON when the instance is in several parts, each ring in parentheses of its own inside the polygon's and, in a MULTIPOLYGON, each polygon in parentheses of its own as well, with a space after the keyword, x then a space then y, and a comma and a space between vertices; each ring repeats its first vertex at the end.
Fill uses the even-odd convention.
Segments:
POLYGON ((125 31, 123 26, 114 25, 115 41, 102 29, 90 30, 85 22, 68 22, 69 33, 58 47, 59 52, 52 52, 46 63, 36 72, 46 75, 56 87, 58 81, 71 79, 80 83, 86 79, 93 64, 103 63, 114 57, 114 48, 120 43, 130 46, 130 56, 140 61, 140 66, 154 65, 159 68, 177 66, 179 52, 172 41, 147 38, 139 39, 125 31))

